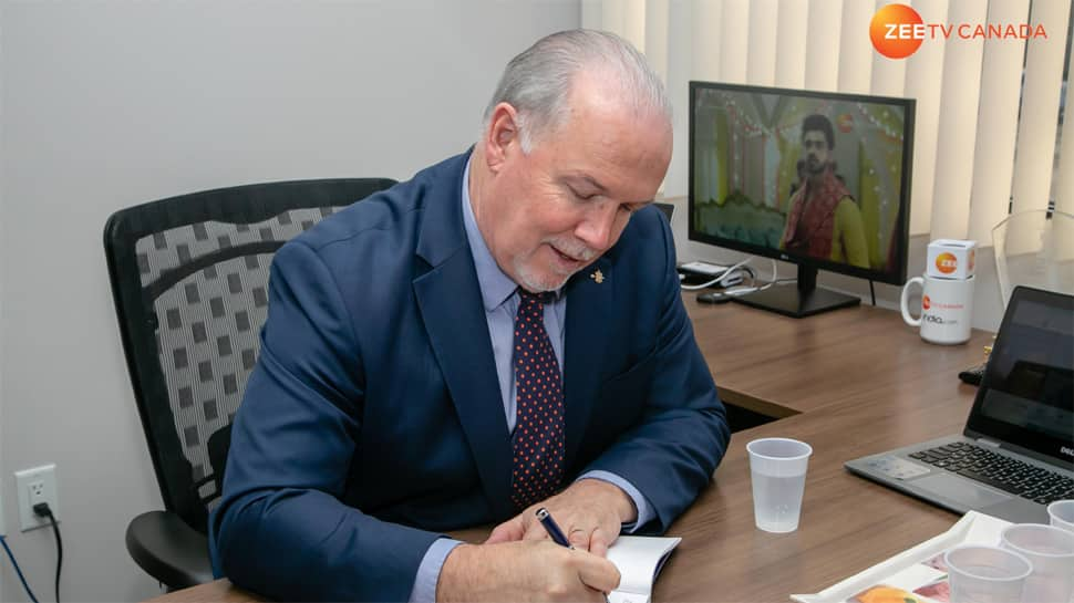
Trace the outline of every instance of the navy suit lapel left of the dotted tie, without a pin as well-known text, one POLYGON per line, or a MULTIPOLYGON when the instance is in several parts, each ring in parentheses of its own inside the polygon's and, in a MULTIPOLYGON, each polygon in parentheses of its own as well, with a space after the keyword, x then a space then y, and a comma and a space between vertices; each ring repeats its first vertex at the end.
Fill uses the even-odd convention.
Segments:
POLYGON ((440 188, 450 194, 431 195, 424 208, 417 254, 430 270, 414 279, 414 294, 489 508, 496 518, 506 518, 514 514, 510 439, 477 272, 463 226, 459 190, 465 165, 463 156, 453 184, 440 188))

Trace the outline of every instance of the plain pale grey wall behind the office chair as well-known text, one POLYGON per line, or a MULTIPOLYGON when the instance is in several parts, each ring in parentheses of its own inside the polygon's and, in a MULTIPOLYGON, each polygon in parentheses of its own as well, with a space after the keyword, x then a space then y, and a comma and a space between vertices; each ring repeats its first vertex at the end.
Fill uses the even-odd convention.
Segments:
MULTIPOLYGON (((506 61, 577 0, 0 0, 0 485, 53 600, 52 534, 12 471, 56 462, 68 601, 159 591, 126 522, 161 508, 102 249, 109 215, 254 181, 390 176, 462 152, 506 61)), ((2 601, 25 601, 7 561, 2 601)))

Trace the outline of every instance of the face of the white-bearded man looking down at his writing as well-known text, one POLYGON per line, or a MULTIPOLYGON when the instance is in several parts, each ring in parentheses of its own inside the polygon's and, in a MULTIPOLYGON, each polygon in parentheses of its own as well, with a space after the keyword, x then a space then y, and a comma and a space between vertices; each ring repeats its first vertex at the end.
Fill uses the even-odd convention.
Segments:
POLYGON ((671 160, 667 121, 639 117, 616 93, 579 75, 567 122, 529 155, 517 131, 506 143, 483 141, 497 149, 484 157, 492 176, 475 205, 478 227, 499 268, 527 290, 559 289, 591 264, 663 180, 671 160))

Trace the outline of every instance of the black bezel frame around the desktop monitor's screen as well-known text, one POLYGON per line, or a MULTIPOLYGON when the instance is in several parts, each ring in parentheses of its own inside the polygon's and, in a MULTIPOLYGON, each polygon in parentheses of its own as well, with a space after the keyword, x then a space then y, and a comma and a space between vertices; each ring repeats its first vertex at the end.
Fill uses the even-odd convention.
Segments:
POLYGON ((698 241, 701 243, 712 245, 716 247, 722 247, 726 249, 732 249, 735 251, 742 251, 745 253, 752 253, 755 256, 761 256, 765 258, 774 258, 777 260, 783 260, 786 262, 792 262, 801 267, 807 267, 812 269, 827 270, 829 272, 837 272, 840 274, 846 274, 849 277, 857 277, 860 279, 867 279, 876 282, 882 282, 888 284, 901 285, 906 282, 907 273, 907 253, 909 247, 909 235, 910 235, 910 188, 912 184, 912 165, 913 165, 913 125, 915 125, 915 107, 916 101, 913 98, 902 98, 897 96, 876 96, 867 94, 847 94, 841 92, 825 92, 817 90, 795 90, 785 87, 772 87, 772 86, 756 86, 756 85, 745 85, 745 84, 729 84, 721 82, 704 82, 699 80, 690 81, 690 111, 689 111, 689 123, 688 123, 688 186, 689 190, 686 193, 688 204, 686 210, 688 225, 686 225, 686 236, 691 241, 698 241), (896 218, 895 237, 896 241, 896 266, 892 270, 887 272, 881 272, 872 268, 858 268, 855 266, 849 266, 841 262, 836 262, 832 260, 825 260, 820 258, 814 258, 812 256, 806 256, 804 253, 788 252, 783 249, 773 249, 770 247, 764 247, 760 245, 753 245, 743 242, 736 239, 729 239, 720 237, 716 235, 710 235, 708 232, 702 232, 698 229, 694 221, 694 209, 696 199, 694 178, 694 131, 696 126, 696 101, 699 91, 704 90, 719 90, 719 91, 730 91, 730 92, 743 92, 743 93, 760 93, 760 94, 782 94, 787 96, 799 96, 808 98, 823 98, 833 101, 849 101, 849 102, 866 102, 866 103, 878 103, 878 104, 890 104, 900 106, 905 111, 906 119, 903 122, 903 145, 902 145, 902 186, 899 190, 899 212, 896 218))

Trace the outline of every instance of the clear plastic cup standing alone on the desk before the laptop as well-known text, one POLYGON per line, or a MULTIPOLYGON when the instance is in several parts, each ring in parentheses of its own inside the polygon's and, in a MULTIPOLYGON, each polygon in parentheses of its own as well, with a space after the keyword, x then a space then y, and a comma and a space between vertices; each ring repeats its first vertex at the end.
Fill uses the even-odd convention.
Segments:
POLYGON ((787 438, 755 439, 746 445, 753 482, 753 520, 766 532, 798 529, 805 474, 813 447, 787 438))

